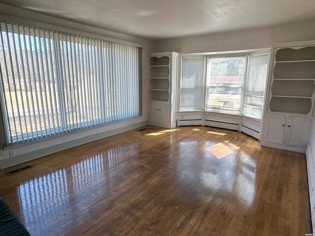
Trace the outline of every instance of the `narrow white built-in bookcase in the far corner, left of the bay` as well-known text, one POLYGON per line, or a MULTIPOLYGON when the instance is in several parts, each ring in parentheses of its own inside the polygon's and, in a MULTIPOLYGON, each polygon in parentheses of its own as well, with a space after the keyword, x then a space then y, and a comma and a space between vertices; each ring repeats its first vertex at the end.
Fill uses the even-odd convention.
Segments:
POLYGON ((149 124, 176 127, 178 53, 149 55, 149 124))

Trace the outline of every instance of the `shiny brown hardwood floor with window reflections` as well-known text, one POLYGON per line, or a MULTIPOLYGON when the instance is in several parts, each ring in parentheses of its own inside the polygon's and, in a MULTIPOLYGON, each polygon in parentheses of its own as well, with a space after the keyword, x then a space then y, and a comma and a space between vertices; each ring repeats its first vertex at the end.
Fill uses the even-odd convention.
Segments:
POLYGON ((305 155, 231 130, 148 125, 0 179, 32 236, 312 233, 305 155))

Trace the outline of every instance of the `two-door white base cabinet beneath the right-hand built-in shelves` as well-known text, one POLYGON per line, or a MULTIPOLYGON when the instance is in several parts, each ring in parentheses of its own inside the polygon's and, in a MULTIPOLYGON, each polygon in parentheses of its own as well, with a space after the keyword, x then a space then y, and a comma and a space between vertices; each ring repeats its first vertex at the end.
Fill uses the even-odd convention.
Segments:
POLYGON ((312 118, 308 117, 268 114, 263 146, 303 152, 307 148, 311 122, 312 118))

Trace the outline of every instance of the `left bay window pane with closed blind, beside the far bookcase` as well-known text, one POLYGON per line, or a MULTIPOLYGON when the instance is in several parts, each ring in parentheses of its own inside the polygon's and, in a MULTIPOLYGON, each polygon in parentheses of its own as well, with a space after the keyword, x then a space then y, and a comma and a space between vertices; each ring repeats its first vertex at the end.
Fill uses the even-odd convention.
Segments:
POLYGON ((183 58, 180 109, 202 109, 204 58, 183 58))

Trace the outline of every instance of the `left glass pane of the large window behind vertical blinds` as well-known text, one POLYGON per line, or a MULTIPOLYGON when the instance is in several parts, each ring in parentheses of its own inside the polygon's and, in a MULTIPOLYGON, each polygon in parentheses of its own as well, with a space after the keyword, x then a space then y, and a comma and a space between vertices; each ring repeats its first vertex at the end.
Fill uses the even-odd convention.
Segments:
POLYGON ((7 142, 51 136, 60 126, 53 31, 6 22, 0 29, 7 142))

